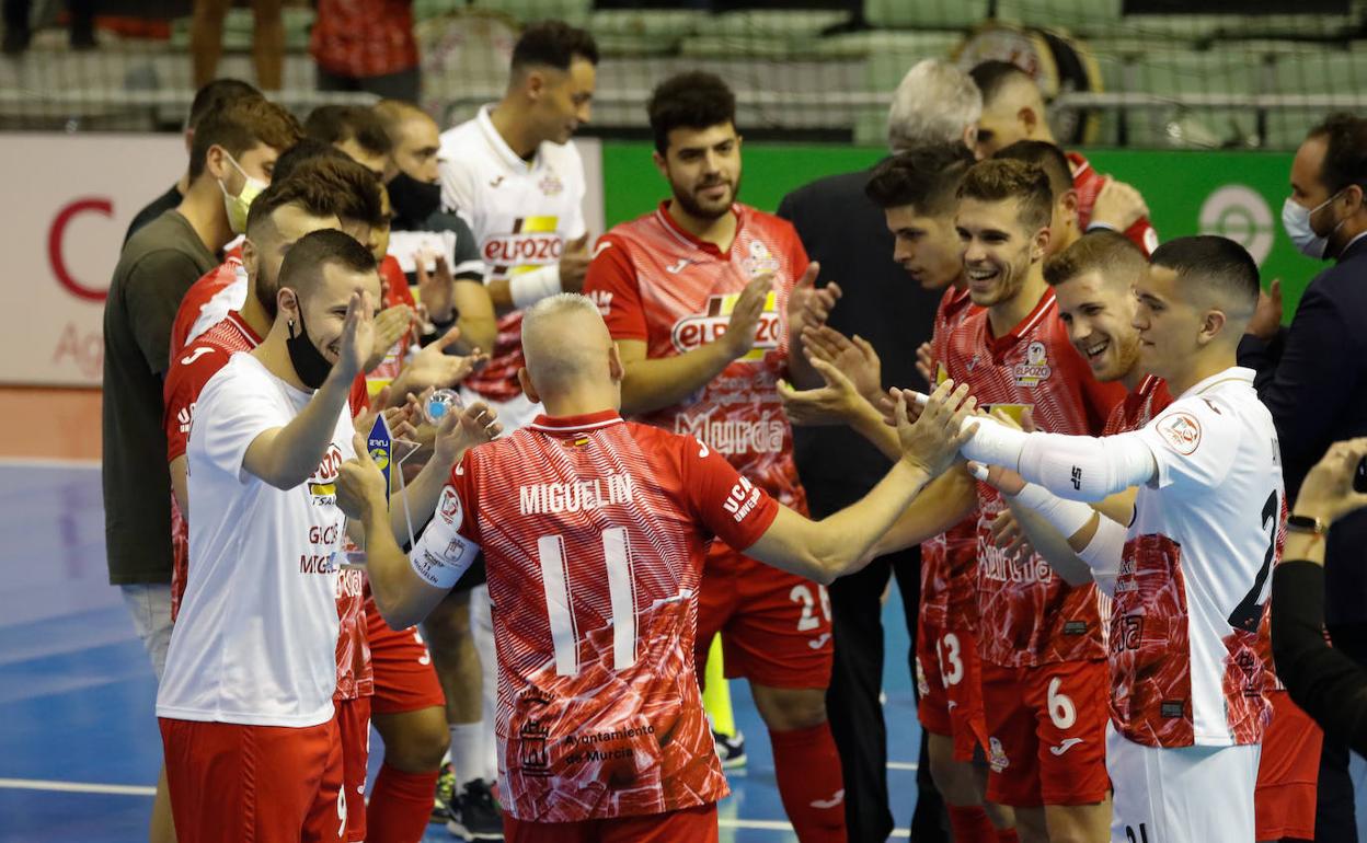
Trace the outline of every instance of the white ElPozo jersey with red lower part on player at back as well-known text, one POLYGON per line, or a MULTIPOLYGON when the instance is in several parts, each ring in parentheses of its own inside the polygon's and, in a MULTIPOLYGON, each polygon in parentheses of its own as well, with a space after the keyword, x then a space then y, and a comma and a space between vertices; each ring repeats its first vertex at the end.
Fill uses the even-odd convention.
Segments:
MULTIPOLYGON (((484 281, 560 261, 566 240, 584 236, 584 163, 573 143, 541 143, 525 161, 489 120, 491 107, 442 133, 442 204, 474 232, 484 281)), ((499 318, 489 363, 466 378, 484 399, 521 395, 522 313, 499 318)), ((534 415, 534 414, 533 414, 534 415)))

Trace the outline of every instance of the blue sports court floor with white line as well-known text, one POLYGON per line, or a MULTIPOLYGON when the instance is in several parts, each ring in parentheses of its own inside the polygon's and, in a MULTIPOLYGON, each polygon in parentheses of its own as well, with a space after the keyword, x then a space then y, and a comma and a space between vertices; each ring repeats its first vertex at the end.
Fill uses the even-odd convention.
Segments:
MULTIPOLYGON (((884 607, 893 814, 906 836, 920 739, 897 590, 884 607)), ((731 775, 722 840, 796 840, 764 728, 733 683, 749 766, 731 775)), ((0 460, 0 843, 145 843, 161 741, 156 686, 107 582, 94 465, 0 460)), ((381 742, 372 741, 372 760, 381 742)), ((431 827, 425 838, 454 838, 431 827)))

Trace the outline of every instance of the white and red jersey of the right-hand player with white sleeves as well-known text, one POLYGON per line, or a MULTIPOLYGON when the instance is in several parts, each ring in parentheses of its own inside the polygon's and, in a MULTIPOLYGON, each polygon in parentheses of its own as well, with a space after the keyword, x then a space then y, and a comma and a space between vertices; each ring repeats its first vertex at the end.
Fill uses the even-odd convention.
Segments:
POLYGON ((1269 716, 1259 626, 1281 555, 1281 458, 1254 372, 1196 384, 1139 436, 1139 489, 1110 627, 1111 720, 1146 746, 1258 743, 1269 716))

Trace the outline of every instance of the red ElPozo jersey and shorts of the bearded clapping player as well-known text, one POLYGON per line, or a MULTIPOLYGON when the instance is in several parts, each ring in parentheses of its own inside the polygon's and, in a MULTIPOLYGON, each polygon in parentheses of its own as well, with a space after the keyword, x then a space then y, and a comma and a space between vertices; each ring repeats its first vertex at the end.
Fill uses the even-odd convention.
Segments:
MULTIPOLYGON (((793 430, 778 396, 787 368, 787 298, 807 271, 791 224, 733 205, 729 251, 670 219, 667 204, 607 232, 596 246, 585 292, 615 340, 641 340, 647 357, 685 354, 726 332, 731 307, 757 275, 774 290, 755 347, 705 387, 640 421, 694 436, 757 486, 798 512, 807 493, 793 462, 793 430)), ((776 571, 716 544, 708 556, 699 613, 699 664, 722 631, 727 676, 775 687, 826 687, 831 671, 830 600, 824 586, 776 571)))

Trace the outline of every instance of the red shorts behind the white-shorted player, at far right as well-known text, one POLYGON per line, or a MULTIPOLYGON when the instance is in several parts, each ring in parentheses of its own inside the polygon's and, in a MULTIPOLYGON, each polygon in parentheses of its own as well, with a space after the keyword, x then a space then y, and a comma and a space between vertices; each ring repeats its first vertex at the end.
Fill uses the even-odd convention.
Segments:
POLYGON ((1325 736, 1284 690, 1269 691, 1273 721, 1263 734, 1254 814, 1259 840, 1315 839, 1319 746, 1325 736))

